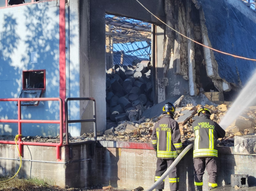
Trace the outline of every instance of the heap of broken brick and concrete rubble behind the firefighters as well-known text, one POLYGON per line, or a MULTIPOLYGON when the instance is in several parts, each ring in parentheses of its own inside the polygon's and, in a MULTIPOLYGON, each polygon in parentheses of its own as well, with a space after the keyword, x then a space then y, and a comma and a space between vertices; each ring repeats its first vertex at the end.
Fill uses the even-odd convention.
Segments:
MULTIPOLYGON (((218 107, 209 106, 212 111, 210 118, 219 123, 220 119, 228 110, 228 105, 221 104, 218 107)), ((201 105, 193 106, 188 104, 186 107, 177 107, 174 119, 179 123, 181 141, 194 141, 194 133, 192 123, 199 118, 197 111, 201 109, 201 105)), ((143 119, 139 121, 121 121, 118 126, 112 126, 104 132, 103 136, 98 136, 99 140, 107 141, 133 141, 133 142, 151 142, 153 127, 160 117, 152 119, 143 119)), ((234 145, 234 136, 248 135, 256 133, 256 107, 248 107, 243 114, 239 116, 227 129, 226 136, 220 138, 218 143, 224 146, 234 145)), ((103 133, 101 133, 103 134, 103 133)))

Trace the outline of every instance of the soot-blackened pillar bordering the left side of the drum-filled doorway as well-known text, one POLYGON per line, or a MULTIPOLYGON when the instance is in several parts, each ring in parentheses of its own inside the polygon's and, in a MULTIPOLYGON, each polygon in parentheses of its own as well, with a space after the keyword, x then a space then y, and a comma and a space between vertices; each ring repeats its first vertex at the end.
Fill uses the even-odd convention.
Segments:
MULTIPOLYGON (((97 130, 106 129, 106 36, 105 10, 99 4, 90 4, 90 97, 96 100, 97 130)), ((88 90, 87 90, 88 91, 88 90)), ((92 112, 92 110, 90 111, 92 112)), ((90 126, 91 127, 91 126, 90 126)), ((93 129, 90 128, 90 131, 93 129)))

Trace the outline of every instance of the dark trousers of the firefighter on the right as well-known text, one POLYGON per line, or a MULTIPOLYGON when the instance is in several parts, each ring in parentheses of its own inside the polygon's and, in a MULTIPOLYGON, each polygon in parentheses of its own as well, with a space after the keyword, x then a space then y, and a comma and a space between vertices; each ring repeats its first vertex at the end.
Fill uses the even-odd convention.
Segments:
POLYGON ((194 175, 195 175, 195 186, 203 185, 203 175, 206 167, 206 171, 209 174, 208 186, 217 187, 217 158, 213 157, 200 157, 194 158, 194 175))

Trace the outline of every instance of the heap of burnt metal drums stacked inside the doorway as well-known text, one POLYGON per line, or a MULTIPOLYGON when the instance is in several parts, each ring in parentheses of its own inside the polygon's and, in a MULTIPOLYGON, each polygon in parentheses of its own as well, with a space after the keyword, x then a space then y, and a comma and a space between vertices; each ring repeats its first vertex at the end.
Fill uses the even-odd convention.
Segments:
POLYGON ((120 121, 138 120, 153 105, 150 68, 150 61, 134 60, 106 71, 107 129, 120 121))

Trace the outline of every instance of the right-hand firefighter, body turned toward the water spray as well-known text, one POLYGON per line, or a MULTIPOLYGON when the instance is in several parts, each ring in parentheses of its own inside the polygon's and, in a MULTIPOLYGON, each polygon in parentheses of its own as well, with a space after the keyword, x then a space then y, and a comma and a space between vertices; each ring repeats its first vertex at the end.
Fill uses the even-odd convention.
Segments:
POLYGON ((209 190, 216 188, 217 185, 217 166, 218 158, 217 139, 223 138, 226 134, 220 125, 210 119, 211 112, 203 107, 198 111, 199 119, 192 123, 195 133, 194 143, 194 174, 196 191, 203 190, 204 170, 209 174, 209 190))

